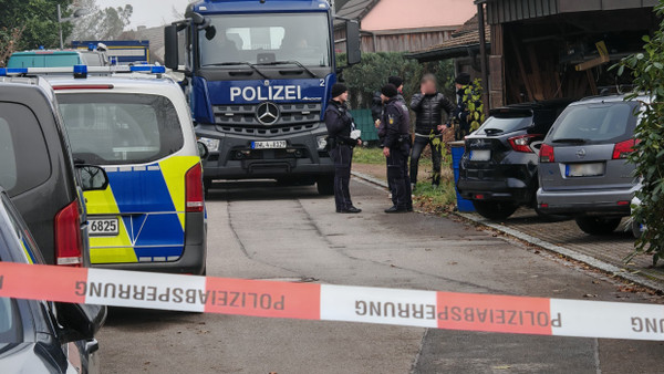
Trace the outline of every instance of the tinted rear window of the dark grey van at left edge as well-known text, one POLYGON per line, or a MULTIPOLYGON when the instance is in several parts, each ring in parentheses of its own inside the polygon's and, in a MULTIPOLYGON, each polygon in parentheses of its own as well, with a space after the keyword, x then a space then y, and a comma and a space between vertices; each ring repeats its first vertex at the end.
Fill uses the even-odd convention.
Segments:
POLYGON ((0 186, 15 196, 43 184, 50 175, 46 142, 32 111, 0 103, 0 186))

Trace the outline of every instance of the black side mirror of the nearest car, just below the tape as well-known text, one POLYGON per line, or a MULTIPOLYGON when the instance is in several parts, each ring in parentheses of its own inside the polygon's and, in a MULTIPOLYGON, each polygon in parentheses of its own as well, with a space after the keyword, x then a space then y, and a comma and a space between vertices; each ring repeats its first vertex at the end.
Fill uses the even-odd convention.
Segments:
POLYGON ((60 341, 70 343, 91 340, 106 321, 108 311, 103 305, 55 303, 55 319, 60 324, 60 341))

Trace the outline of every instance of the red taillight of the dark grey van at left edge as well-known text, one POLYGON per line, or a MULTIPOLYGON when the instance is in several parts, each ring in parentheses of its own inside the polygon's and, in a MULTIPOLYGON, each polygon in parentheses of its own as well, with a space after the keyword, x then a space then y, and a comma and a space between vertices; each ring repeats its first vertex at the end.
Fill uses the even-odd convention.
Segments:
POLYGON ((80 267, 83 264, 83 238, 79 200, 55 215, 55 264, 80 267))

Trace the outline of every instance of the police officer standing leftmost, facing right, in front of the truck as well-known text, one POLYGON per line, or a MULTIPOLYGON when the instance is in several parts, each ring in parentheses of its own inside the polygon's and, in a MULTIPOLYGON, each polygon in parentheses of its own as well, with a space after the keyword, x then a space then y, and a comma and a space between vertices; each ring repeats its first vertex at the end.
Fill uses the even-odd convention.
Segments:
POLYGON ((349 184, 351 181, 351 163, 353 162, 353 147, 362 141, 353 138, 355 131, 351 114, 345 102, 349 100, 349 90, 341 83, 332 86, 332 100, 325 110, 325 126, 328 127, 328 147, 330 157, 334 163, 334 202, 336 212, 357 214, 361 209, 353 206, 349 184))

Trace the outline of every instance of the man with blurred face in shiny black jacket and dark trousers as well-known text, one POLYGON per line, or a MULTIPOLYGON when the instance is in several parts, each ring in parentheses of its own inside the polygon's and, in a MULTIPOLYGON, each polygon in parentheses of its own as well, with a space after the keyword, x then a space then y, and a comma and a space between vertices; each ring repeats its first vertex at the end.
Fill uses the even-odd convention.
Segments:
POLYGON ((440 132, 445 127, 444 123, 454 112, 454 104, 438 92, 434 74, 426 74, 422 77, 419 91, 419 93, 413 95, 411 101, 411 108, 417 116, 415 120, 415 141, 411 154, 411 184, 415 188, 419 157, 428 145, 434 164, 432 185, 438 187, 440 185, 440 160, 443 158, 440 132), (437 142, 434 142, 435 139, 437 142))

